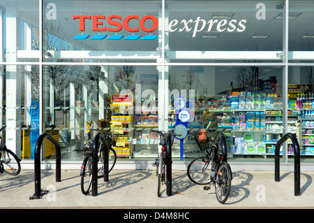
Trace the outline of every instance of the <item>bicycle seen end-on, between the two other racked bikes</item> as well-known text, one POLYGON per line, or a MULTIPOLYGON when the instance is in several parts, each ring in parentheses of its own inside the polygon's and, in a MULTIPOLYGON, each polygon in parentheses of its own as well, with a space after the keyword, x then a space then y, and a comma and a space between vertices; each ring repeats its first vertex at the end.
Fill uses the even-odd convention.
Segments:
POLYGON ((172 158, 171 158, 171 146, 172 146, 172 136, 181 136, 179 134, 174 134, 171 131, 154 131, 158 134, 159 145, 161 145, 161 152, 158 154, 157 159, 152 164, 156 166, 156 176, 158 176, 158 187, 157 196, 160 197, 161 185, 166 185, 167 196, 172 195, 172 158))

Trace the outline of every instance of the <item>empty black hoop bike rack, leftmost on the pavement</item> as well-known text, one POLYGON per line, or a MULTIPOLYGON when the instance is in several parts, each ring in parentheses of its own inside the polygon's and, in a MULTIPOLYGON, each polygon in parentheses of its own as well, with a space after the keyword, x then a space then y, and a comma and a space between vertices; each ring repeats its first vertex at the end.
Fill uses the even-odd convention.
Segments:
POLYGON ((29 199, 41 199, 43 195, 47 194, 47 190, 41 189, 41 178, 40 178, 40 149, 42 148, 44 139, 47 138, 50 143, 56 148, 56 182, 61 182, 61 150, 59 143, 47 132, 41 134, 36 141, 34 151, 34 169, 35 169, 35 194, 30 196, 29 199))

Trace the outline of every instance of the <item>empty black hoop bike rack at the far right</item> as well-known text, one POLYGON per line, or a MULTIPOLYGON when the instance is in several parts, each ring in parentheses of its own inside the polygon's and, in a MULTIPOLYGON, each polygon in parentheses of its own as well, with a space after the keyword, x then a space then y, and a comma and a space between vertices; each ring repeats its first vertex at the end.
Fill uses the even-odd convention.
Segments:
POLYGON ((297 141, 297 137, 294 134, 287 133, 283 138, 281 138, 276 143, 275 148, 275 181, 280 181, 280 167, 279 167, 279 152, 281 144, 283 144, 287 139, 290 138, 292 141, 292 146, 294 148, 294 196, 300 196, 300 148, 297 141))

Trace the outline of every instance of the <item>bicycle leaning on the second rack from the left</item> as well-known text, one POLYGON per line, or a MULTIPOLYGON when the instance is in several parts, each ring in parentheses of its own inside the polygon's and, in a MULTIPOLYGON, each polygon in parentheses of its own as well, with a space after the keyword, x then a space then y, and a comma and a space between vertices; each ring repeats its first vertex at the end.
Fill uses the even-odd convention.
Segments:
MULTIPOLYGON (((108 173, 112 171, 112 168, 114 168, 114 164, 116 164, 117 161, 117 153, 112 148, 112 145, 115 145, 115 141, 112 141, 112 134, 111 132, 103 133, 100 129, 91 129, 94 131, 100 132, 100 134, 105 139, 100 140, 100 143, 98 143, 98 161, 100 161, 100 164, 98 164, 98 176, 97 178, 103 178, 105 175, 105 163, 104 163, 104 156, 105 154, 103 151, 105 151, 105 146, 109 150, 109 157, 111 157, 108 163, 108 173), (102 171, 103 173, 101 173, 102 171)), ((89 141, 89 143, 86 143, 84 145, 84 160, 81 166, 81 191, 83 194, 87 194, 89 192, 89 189, 91 188, 91 182, 92 182, 92 163, 93 163, 93 154, 96 152, 94 150, 94 144, 92 141, 89 141)))

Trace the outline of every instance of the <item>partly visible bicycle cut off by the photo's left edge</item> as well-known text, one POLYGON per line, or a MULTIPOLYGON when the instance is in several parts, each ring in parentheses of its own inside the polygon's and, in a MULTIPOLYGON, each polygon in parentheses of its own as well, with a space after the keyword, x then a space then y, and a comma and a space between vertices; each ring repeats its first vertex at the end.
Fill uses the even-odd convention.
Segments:
MULTIPOLYGON (((3 125, 0 132, 6 129, 6 125, 3 125)), ((0 134, 0 174, 3 172, 9 175, 17 175, 21 171, 21 159, 17 158, 17 155, 6 148, 6 145, 2 141, 0 134)))

